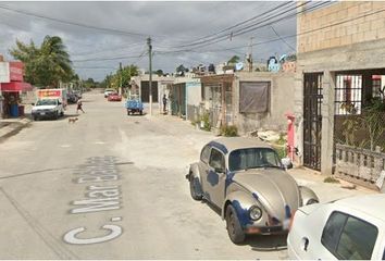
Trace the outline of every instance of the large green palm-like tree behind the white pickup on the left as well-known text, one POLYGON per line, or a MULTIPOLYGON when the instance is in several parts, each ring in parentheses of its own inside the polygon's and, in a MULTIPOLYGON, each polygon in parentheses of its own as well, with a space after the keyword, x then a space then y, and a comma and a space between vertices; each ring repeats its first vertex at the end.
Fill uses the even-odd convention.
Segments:
POLYGON ((25 78, 33 85, 58 87, 60 80, 70 82, 74 77, 70 54, 59 36, 46 36, 38 48, 16 40, 10 53, 25 64, 25 78))

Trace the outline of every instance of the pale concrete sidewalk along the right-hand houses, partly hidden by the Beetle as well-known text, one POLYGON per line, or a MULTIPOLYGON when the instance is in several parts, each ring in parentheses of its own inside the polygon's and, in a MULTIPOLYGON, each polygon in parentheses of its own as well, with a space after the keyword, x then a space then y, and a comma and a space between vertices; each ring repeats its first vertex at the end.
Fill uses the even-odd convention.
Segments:
MULTIPOLYGON (((158 121, 160 124, 167 126, 169 132, 171 134, 175 134, 175 137, 181 136, 181 133, 185 134, 183 138, 186 139, 186 142, 192 144, 192 147, 196 150, 201 149, 201 147, 197 147, 198 145, 203 145, 216 138, 213 133, 200 129, 198 130, 189 121, 182 120, 177 116, 153 113, 152 116, 146 115, 146 117, 150 121, 158 121)), ((297 181, 299 185, 313 189, 319 196, 321 202, 376 192, 360 186, 356 186, 355 189, 343 188, 341 186, 351 185, 344 181, 340 181, 339 184, 324 183, 324 178, 326 176, 321 175, 316 171, 302 166, 294 167, 287 172, 297 181)))

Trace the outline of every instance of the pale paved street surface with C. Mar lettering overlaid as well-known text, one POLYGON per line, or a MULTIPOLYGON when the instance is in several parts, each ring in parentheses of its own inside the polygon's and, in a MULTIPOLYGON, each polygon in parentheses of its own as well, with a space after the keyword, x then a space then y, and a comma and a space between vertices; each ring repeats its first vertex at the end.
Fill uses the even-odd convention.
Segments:
MULTIPOLYGON (((234 245, 186 165, 212 135, 84 96, 0 144, 0 259, 285 259, 285 236, 234 245)), ((158 112, 158 109, 154 109, 158 112)))

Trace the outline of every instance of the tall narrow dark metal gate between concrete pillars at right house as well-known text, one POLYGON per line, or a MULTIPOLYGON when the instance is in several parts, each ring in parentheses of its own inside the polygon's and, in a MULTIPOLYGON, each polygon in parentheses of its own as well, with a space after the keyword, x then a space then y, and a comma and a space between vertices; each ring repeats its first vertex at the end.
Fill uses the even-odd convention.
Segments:
POLYGON ((305 74, 303 165, 321 171, 322 73, 305 74))

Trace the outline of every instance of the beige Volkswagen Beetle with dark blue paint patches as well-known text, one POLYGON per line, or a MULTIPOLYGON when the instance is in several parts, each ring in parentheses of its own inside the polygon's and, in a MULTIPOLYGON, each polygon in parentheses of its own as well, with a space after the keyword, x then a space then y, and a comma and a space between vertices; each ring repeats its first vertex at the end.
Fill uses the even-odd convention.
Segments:
POLYGON ((221 210, 231 240, 247 234, 287 233, 294 211, 319 201, 286 173, 276 151, 252 138, 220 138, 188 167, 190 194, 221 210))

